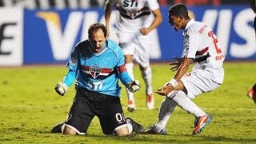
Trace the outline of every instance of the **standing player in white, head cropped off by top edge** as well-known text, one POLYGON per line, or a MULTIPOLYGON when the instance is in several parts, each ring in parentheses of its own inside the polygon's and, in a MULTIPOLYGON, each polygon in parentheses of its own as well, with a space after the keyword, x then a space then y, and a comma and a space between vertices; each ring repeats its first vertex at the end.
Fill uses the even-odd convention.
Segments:
MULTIPOLYGON (((134 78, 133 59, 138 62, 142 78, 146 83, 146 107, 154 108, 152 93, 152 74, 150 68, 150 37, 151 31, 162 22, 162 14, 157 0, 107 0, 105 5, 106 28, 110 33, 110 15, 116 6, 119 12, 117 36, 119 46, 125 54, 126 69, 134 78)), ((128 95, 128 110, 136 109, 134 94, 126 90, 128 95)))

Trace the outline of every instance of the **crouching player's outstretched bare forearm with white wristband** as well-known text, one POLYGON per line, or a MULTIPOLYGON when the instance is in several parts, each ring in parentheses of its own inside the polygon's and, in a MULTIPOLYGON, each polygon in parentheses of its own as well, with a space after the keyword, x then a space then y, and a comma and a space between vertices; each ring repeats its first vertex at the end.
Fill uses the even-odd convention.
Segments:
POLYGON ((178 71, 174 75, 174 78, 172 78, 169 82, 162 86, 162 88, 159 88, 156 93, 160 95, 167 95, 172 90, 183 90, 184 86, 182 85, 182 82, 180 80, 182 76, 186 74, 186 71, 190 67, 191 62, 193 62, 192 58, 182 58, 182 64, 181 66, 179 66, 178 71))

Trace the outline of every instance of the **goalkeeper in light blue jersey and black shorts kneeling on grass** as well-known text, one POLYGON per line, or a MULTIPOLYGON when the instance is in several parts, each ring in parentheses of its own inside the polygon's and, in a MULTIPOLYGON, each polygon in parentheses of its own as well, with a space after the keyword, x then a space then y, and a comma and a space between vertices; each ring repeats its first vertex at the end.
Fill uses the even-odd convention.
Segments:
POLYGON ((55 86, 63 96, 76 81, 76 94, 66 122, 54 126, 52 132, 86 134, 94 116, 99 118, 104 134, 125 136, 143 130, 141 125, 125 118, 122 111, 118 78, 133 93, 140 85, 127 74, 121 48, 106 38, 106 27, 101 23, 89 27, 88 37, 74 47, 66 64, 69 71, 55 86))

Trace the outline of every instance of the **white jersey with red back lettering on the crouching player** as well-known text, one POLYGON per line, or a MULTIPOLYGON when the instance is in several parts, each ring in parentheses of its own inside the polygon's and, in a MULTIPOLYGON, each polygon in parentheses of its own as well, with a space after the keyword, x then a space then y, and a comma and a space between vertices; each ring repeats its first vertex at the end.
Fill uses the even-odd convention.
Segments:
POLYGON ((222 45, 209 26, 191 19, 186 24, 183 35, 182 58, 193 58, 197 62, 194 69, 222 68, 225 59, 222 45))

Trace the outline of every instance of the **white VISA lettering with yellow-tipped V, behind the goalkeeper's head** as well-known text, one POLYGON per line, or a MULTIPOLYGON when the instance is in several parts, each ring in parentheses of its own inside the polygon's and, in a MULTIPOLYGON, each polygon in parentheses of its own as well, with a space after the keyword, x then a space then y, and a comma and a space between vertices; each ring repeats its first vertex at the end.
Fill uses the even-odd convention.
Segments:
MULTIPOLYGON (((115 14, 118 11, 113 11, 110 19, 110 39, 118 42, 115 33, 115 14)), ((50 46, 57 61, 66 60, 70 57, 71 50, 75 45, 75 40, 81 32, 81 41, 88 38, 87 30, 90 24, 98 22, 100 15, 97 11, 70 11, 66 21, 65 28, 62 28, 62 21, 58 12, 40 11, 37 13, 38 18, 42 18, 46 22, 46 29, 50 38, 50 46), (81 29, 82 27, 82 29, 81 29)), ((105 23, 104 15, 100 18, 100 22, 105 23)), ((158 41, 158 33, 152 31, 154 42, 150 47, 150 58, 160 58, 161 50, 158 41)))

